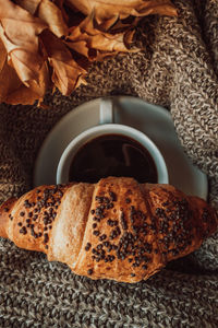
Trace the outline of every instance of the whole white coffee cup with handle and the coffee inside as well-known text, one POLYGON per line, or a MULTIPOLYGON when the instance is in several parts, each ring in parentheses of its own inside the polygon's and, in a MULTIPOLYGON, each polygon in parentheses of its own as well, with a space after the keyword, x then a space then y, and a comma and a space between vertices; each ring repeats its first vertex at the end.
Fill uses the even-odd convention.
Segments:
POLYGON ((101 98, 99 125, 76 136, 63 151, 57 184, 97 183, 107 176, 132 176, 138 183, 168 184, 157 145, 142 131, 113 122, 113 102, 101 98))

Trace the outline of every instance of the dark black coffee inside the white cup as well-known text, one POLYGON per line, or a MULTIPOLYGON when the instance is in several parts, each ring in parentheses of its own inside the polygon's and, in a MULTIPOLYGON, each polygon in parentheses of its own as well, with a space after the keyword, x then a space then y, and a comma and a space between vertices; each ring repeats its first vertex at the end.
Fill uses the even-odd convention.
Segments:
POLYGON ((107 176, 134 177, 138 183, 157 183, 153 157, 137 141, 105 134, 85 143, 72 159, 69 180, 97 183, 107 176))

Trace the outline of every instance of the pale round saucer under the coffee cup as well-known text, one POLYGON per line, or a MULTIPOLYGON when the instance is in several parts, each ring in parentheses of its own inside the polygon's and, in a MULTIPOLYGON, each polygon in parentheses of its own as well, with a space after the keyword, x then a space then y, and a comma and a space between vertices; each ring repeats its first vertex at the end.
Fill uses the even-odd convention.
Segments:
MULTIPOLYGON (((116 96, 114 122, 132 126, 145 132, 161 151, 169 172, 169 183, 186 195, 207 199, 206 175, 184 154, 170 113, 132 96, 116 96)), ((51 130, 38 153, 34 186, 56 184, 60 156, 78 133, 98 125, 100 99, 82 104, 68 113, 51 130)))

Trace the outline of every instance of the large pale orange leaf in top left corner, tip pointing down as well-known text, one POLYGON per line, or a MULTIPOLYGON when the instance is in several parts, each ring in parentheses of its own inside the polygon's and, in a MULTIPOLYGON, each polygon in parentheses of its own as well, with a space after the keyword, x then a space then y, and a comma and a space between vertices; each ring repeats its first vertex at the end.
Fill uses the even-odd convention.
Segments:
POLYGON ((0 0, 0 23, 8 62, 26 86, 32 81, 39 83, 44 58, 39 54, 38 35, 47 25, 9 0, 0 0))

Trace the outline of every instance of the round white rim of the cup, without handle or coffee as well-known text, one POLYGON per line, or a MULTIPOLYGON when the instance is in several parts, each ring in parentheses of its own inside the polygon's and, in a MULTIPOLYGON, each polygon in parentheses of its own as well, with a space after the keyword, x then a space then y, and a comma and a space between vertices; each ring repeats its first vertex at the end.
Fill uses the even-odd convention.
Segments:
POLYGON ((71 154, 75 154, 76 151, 81 148, 82 143, 86 143, 92 139, 95 139, 99 136, 102 134, 123 134, 129 138, 132 138, 133 140, 136 140, 143 148, 145 148, 150 156, 153 157, 156 168, 157 168, 157 183, 158 184, 168 184, 169 183, 169 175, 168 175, 168 168, 166 165, 166 161, 158 149, 158 147, 155 144, 155 142, 147 137, 144 132, 141 130, 137 130, 131 126, 126 125, 121 125, 121 124, 100 124, 97 126, 94 126, 92 128, 88 128, 87 130, 84 130, 80 134, 77 134, 75 138, 73 138, 70 143, 66 145, 64 149, 59 163, 58 163, 58 168, 57 168, 57 184, 64 184, 69 183, 66 181, 68 178, 65 178, 64 175, 64 169, 69 172, 71 162, 72 162, 72 156, 71 154), (109 131, 116 129, 113 131, 109 131), (105 132, 105 133, 102 133, 105 132), (93 133, 95 133, 93 136, 93 133), (142 142, 141 140, 145 140, 146 143, 142 142), (75 148, 75 145, 77 145, 75 148), (154 154, 156 156, 154 156, 154 154), (68 159, 70 160, 68 161, 68 159))

